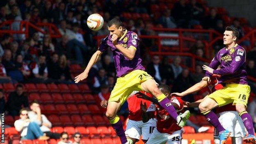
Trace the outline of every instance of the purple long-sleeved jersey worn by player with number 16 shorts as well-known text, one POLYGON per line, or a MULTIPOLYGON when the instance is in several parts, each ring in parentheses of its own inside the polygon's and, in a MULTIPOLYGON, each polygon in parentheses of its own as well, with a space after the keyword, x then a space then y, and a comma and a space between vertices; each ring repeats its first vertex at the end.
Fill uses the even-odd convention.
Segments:
MULTIPOLYGON (((245 49, 235 44, 229 50, 226 48, 219 50, 209 66, 212 69, 217 69, 219 65, 221 66, 221 69, 213 71, 214 74, 222 75, 219 78, 219 83, 247 84, 245 58, 245 49)), ((211 74, 206 71, 206 76, 211 77, 211 74)))

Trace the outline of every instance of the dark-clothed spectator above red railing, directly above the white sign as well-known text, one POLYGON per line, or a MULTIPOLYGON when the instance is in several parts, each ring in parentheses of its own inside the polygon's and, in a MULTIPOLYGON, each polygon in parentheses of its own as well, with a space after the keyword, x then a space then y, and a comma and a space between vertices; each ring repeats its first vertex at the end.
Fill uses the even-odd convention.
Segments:
POLYGON ((174 18, 171 16, 171 10, 166 9, 163 13, 163 16, 159 19, 159 23, 166 28, 176 28, 177 25, 174 18))

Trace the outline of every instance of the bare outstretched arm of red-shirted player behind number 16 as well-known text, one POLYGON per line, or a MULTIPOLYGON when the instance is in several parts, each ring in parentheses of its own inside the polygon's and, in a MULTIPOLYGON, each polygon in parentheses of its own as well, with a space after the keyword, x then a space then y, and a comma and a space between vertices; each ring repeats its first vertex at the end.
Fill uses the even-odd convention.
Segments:
POLYGON ((202 80, 201 82, 198 82, 197 84, 193 85, 192 87, 188 88, 187 90, 181 92, 181 93, 172 93, 171 95, 176 95, 176 96, 186 96, 188 94, 192 94, 196 91, 199 91, 205 87, 208 86, 208 82, 206 80, 202 80))

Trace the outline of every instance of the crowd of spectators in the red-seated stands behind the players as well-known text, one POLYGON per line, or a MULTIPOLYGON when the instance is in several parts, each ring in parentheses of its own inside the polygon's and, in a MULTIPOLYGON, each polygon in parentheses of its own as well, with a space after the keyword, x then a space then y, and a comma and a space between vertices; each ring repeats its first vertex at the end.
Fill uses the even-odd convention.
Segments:
MULTIPOLYGON (((80 64, 82 67, 87 65, 91 54, 96 50, 96 41, 93 37, 109 34, 107 22, 112 18, 120 18, 128 30, 134 31, 138 35, 155 35, 151 29, 153 26, 203 28, 223 33, 225 26, 233 25, 238 28, 240 37, 243 37, 245 35, 243 26, 248 26, 248 23, 241 23, 238 18, 227 22, 226 17, 220 15, 219 9, 207 7, 203 0, 173 0, 166 5, 162 4, 158 0, 1 0, 0 23, 8 20, 23 20, 34 24, 54 23, 62 37, 53 39, 49 34, 42 34, 35 30, 30 30, 27 38, 24 34, 2 34, 0 39, 0 83, 73 84, 69 66, 71 64, 80 64), (89 30, 86 23, 87 17, 93 13, 101 14, 104 18, 103 28, 97 32, 89 30), (142 18, 138 18, 136 14, 142 18)), ((19 28, 19 22, 12 24, 13 30, 19 30, 19 28)), ((250 43, 243 41, 242 46, 250 46, 250 43)), ((144 47, 150 48, 150 50, 158 49, 155 41, 147 39, 144 39, 144 45, 141 46, 141 54, 146 52, 144 47)), ((222 47, 222 43, 220 43, 215 49, 222 47)), ((203 50, 203 41, 198 39, 189 52, 206 58, 203 50)), ((254 78, 256 78, 255 55, 256 47, 247 52, 247 73, 254 78)), ((168 57, 143 56, 146 71, 159 84, 170 85, 173 92, 186 90, 199 82, 205 73, 201 68, 204 63, 200 61, 197 61, 195 73, 191 73, 189 69, 182 66, 184 60, 180 56, 174 57, 171 63, 168 57)), ((115 80, 112 52, 108 50, 94 64, 87 78, 87 84, 98 104, 100 101, 108 99, 115 80)), ((256 94, 256 83, 250 82, 249 85, 251 91, 256 94)), ((201 99, 200 96, 203 96, 206 91, 199 91, 195 94, 197 97, 187 96, 184 100, 191 102, 201 99)), ((36 113, 38 114, 40 110, 38 107, 37 110, 33 110, 33 104, 30 106, 32 111, 28 112, 22 109, 22 107, 29 107, 22 85, 17 85, 16 91, 9 94, 8 100, 5 100, 3 95, 4 92, 0 90, 1 112, 8 110, 9 114, 13 116, 20 114, 23 121, 27 121, 27 114, 37 117, 36 113)), ((253 96, 249 103, 249 110, 256 123, 256 97, 253 96)), ((126 108, 127 106, 121 110, 124 115, 127 115, 126 108)), ((104 109, 101 111, 103 112, 104 109)), ((44 120, 48 121, 43 117, 42 121, 44 120)), ((45 128, 41 126, 38 137, 42 137, 42 139, 59 137, 59 134, 56 136, 56 134, 48 133, 47 127, 49 128, 50 125, 50 123, 46 124, 45 128), (42 133, 46 133, 46 135, 42 133)), ((37 129, 32 118, 27 121, 26 126, 37 129)), ((68 142, 66 135, 66 133, 60 135, 60 144, 68 142)), ((75 134, 74 140, 81 137, 79 135, 75 134)))

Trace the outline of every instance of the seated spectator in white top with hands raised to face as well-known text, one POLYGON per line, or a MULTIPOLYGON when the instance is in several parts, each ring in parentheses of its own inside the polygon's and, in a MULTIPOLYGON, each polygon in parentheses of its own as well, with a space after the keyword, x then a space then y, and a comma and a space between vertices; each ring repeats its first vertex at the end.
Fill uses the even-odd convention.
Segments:
POLYGON ((60 136, 59 133, 52 133, 50 131, 52 123, 44 114, 41 114, 40 105, 37 100, 32 101, 30 109, 31 111, 28 112, 30 121, 37 123, 37 125, 40 126, 40 130, 45 133, 47 137, 50 137, 51 139, 58 139, 60 136))

